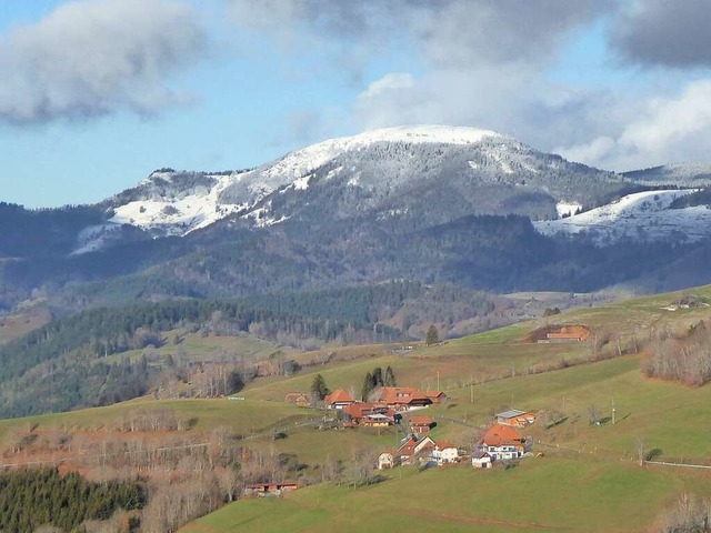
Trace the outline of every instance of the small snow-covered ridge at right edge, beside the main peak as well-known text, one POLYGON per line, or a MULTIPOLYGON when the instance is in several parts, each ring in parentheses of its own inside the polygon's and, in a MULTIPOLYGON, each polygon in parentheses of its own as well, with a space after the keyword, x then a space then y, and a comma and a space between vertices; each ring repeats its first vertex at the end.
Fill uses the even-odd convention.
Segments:
POLYGON ((599 244, 633 241, 697 242, 711 232, 711 209, 705 205, 673 209, 678 198, 693 189, 658 190, 629 194, 620 200, 559 220, 538 221, 543 234, 588 233, 599 244))

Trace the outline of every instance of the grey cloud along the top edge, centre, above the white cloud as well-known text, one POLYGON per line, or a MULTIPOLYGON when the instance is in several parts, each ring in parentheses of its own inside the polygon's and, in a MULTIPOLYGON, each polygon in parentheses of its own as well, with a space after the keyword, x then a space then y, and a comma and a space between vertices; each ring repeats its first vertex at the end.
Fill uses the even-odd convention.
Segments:
MULTIPOLYGON (((612 0, 231 0, 238 22, 271 28, 293 42, 303 28, 377 51, 403 38, 432 64, 545 60, 572 28, 612 0)), ((301 32, 301 37, 303 33, 301 32)))

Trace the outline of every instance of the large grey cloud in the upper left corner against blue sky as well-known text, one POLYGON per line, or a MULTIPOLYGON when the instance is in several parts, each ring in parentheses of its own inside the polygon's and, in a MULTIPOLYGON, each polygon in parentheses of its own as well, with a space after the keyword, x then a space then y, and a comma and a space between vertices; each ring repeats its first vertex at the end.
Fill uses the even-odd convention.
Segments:
POLYGON ((180 1, 80 0, 0 37, 0 120, 39 123, 183 102, 166 78, 200 59, 206 32, 180 1))

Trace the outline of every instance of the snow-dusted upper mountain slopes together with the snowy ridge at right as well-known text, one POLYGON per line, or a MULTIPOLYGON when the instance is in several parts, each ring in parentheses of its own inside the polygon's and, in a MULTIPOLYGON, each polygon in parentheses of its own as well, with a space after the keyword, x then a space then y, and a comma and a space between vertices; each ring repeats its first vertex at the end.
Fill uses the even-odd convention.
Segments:
POLYGON ((470 214, 522 214, 544 234, 588 232, 600 243, 705 237, 705 208, 670 209, 691 189, 638 193, 661 184, 711 184, 711 164, 621 175, 490 130, 388 128, 320 142, 250 170, 156 171, 107 201, 111 217, 81 231, 74 253, 120 241, 120 227, 182 237, 223 219, 244 228, 358 218, 423 228, 470 214))

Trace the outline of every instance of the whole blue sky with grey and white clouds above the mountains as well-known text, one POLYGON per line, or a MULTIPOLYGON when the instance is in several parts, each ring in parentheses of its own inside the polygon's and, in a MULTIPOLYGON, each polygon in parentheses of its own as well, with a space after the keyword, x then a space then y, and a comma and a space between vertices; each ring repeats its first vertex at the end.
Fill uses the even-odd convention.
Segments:
POLYGON ((708 0, 0 2, 0 201, 92 203, 404 124, 711 162, 708 0))

